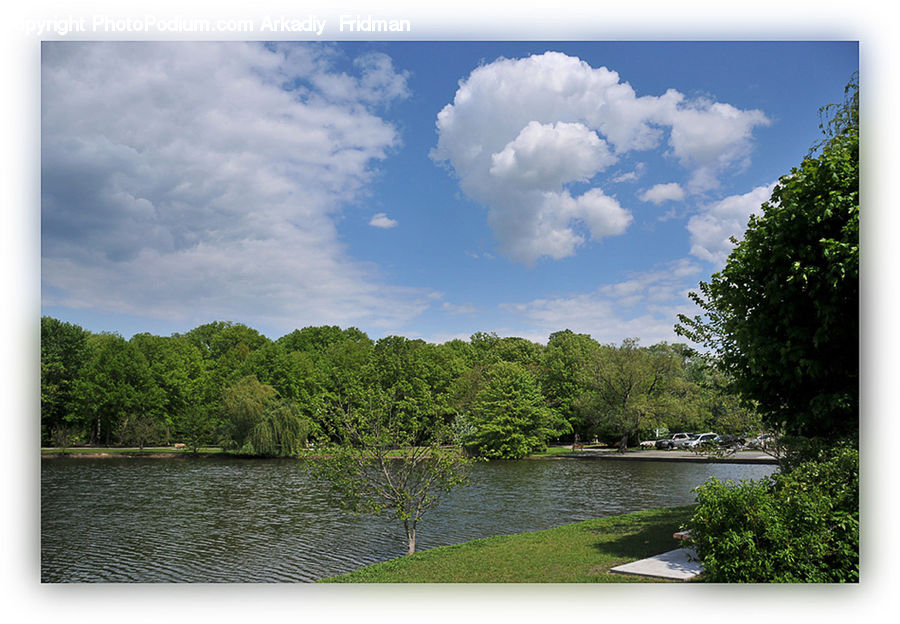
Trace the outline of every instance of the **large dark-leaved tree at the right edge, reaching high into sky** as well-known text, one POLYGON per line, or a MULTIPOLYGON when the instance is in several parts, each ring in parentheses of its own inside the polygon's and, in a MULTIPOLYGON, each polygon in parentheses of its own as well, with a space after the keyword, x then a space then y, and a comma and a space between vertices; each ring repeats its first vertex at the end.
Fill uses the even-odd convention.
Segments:
POLYGON ((823 143, 783 176, 676 331, 716 352, 735 388, 788 434, 859 429, 859 88, 823 109, 823 143))

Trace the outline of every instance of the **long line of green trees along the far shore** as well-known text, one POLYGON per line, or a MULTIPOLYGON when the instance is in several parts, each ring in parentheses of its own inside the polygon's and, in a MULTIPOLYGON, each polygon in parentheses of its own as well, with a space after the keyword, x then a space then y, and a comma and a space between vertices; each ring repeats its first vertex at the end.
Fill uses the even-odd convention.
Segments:
MULTIPOLYGON (((684 344, 600 344, 570 330, 546 345, 475 333, 468 341, 373 340, 305 327, 271 340, 216 321, 125 339, 41 319, 41 443, 183 443, 291 456, 344 438, 364 411, 407 431, 450 431, 488 458, 599 437, 621 446, 659 430, 751 433, 759 417, 709 356, 684 344)), ((427 441, 427 440, 425 440, 427 441)))

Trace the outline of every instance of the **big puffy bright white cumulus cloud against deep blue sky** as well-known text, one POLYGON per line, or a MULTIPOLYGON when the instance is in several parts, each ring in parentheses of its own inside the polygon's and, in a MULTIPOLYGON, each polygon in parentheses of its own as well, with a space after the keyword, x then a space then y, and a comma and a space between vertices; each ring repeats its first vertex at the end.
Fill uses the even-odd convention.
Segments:
POLYGON ((585 228, 591 240, 625 231, 630 214, 594 183, 623 155, 667 141, 699 191, 745 162, 753 128, 765 123, 760 111, 689 101, 674 89, 638 96, 606 67, 547 52, 472 71, 438 114, 432 158, 488 207, 502 253, 532 264, 573 255, 588 240, 585 228), (590 188, 573 195, 574 183, 590 188))

